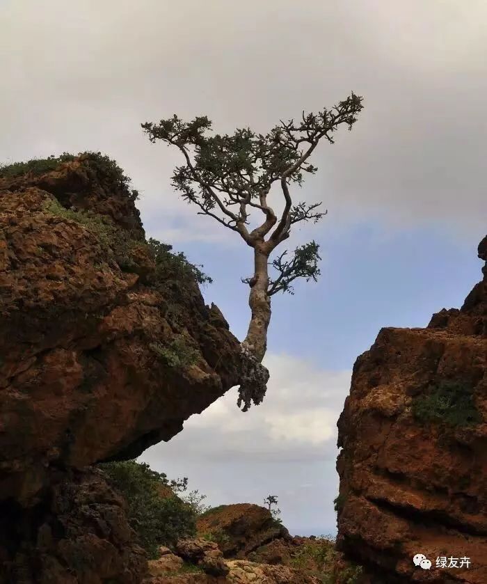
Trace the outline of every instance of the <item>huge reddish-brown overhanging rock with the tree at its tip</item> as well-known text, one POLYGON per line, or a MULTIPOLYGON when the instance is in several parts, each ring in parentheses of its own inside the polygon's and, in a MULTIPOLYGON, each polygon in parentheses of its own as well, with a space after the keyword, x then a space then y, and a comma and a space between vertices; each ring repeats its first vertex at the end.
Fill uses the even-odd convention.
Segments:
POLYGON ((152 281, 133 201, 86 168, 0 179, 0 499, 28 502, 51 466, 135 457, 238 383, 227 324, 195 281, 152 281), (106 214, 122 244, 136 238, 130 267, 110 233, 46 208, 54 197, 106 214), (175 338, 194 364, 154 350, 175 338))

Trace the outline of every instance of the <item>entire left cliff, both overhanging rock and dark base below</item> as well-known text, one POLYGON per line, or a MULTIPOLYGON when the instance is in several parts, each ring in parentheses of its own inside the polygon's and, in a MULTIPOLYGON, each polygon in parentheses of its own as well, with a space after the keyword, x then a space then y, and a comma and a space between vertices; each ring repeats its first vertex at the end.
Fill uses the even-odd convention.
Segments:
POLYGON ((48 166, 0 169, 0 582, 137 582, 123 503, 82 469, 177 434, 238 384, 239 342, 120 169, 48 166))

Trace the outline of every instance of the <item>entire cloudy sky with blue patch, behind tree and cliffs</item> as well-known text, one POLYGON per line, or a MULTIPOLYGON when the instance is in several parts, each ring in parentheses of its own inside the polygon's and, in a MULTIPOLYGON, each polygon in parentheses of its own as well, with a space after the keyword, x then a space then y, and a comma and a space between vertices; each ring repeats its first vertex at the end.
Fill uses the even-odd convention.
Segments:
POLYGON ((356 357, 382 326, 460 306, 481 276, 486 18, 484 0, 0 0, 0 162, 116 159, 147 235, 204 265, 205 300, 238 338, 251 250, 178 198, 177 152, 140 124, 177 113, 266 132, 364 97, 353 130, 317 148, 317 174, 292 192, 328 209, 288 240, 320 244, 321 278, 273 297, 264 403, 242 413, 230 390, 141 460, 187 476, 211 505, 276 494, 292 532, 335 532, 336 420, 356 357))

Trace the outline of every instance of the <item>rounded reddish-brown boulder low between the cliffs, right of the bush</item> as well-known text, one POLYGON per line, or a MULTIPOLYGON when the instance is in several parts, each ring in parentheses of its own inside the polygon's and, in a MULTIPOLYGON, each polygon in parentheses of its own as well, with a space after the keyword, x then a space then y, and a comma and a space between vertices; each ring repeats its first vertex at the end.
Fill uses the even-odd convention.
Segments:
POLYGON ((246 558, 273 539, 290 539, 287 529, 259 505, 221 505, 198 519, 198 532, 214 535, 225 558, 246 558))

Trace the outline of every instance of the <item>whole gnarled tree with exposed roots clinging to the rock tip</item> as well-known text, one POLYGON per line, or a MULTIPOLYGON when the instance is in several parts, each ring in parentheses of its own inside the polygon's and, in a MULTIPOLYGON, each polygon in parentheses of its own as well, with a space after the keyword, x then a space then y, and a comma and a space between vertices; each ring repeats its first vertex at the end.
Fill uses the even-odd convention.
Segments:
POLYGON ((262 365, 266 353, 267 329, 271 320, 271 297, 277 292, 292 293, 298 278, 317 280, 319 246, 310 242, 294 253, 283 251, 271 262, 276 276, 269 276, 271 253, 289 238, 296 223, 316 223, 325 214, 321 203, 293 203, 291 187, 303 184, 303 173, 317 168, 309 158, 319 141, 334 142, 333 134, 342 125, 351 129, 362 110, 362 97, 351 93, 346 100, 317 114, 305 113, 297 123, 280 123, 267 134, 250 128, 234 134, 208 134, 211 122, 206 116, 184 122, 178 116, 144 123, 143 130, 152 143, 157 140, 178 148, 184 164, 177 166, 172 184, 182 197, 196 205, 198 214, 211 216, 236 232, 253 248, 254 269, 243 282, 250 287, 250 323, 241 342, 242 373, 238 405, 247 411, 251 402, 264 398, 269 372, 262 365), (280 214, 271 207, 271 189, 280 191, 280 214), (250 229, 250 212, 262 213, 262 221, 250 229))

